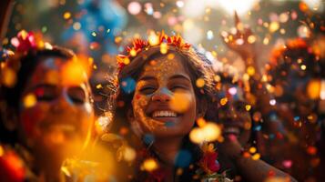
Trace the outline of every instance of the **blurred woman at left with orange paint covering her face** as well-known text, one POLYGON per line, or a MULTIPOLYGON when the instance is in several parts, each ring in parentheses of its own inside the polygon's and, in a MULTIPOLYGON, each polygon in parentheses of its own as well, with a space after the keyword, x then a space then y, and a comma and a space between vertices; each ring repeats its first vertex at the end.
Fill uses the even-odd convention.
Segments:
POLYGON ((93 126, 86 72, 67 77, 80 66, 72 51, 36 47, 33 33, 25 31, 16 38, 15 56, 0 72, 4 126, 15 134, 10 147, 0 146, 0 180, 60 181, 63 161, 80 153, 93 126))

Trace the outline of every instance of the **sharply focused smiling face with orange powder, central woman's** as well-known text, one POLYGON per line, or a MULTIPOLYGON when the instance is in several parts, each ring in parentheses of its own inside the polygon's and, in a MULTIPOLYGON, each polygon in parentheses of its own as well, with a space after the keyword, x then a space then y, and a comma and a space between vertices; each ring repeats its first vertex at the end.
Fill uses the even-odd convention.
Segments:
POLYGON ((177 54, 148 61, 137 80, 129 120, 141 136, 185 136, 197 118, 197 101, 191 78, 177 54), (175 96, 181 97, 175 104, 175 96), (181 111, 175 105, 186 105, 181 111))

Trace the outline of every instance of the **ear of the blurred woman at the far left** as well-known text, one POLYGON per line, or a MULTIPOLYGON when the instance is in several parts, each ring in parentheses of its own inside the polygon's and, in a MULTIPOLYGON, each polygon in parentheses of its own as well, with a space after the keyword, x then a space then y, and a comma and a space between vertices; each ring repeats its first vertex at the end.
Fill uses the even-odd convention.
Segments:
POLYGON ((3 123, 5 129, 8 131, 14 131, 18 126, 18 115, 14 108, 6 107, 5 112, 2 112, 3 115, 3 123))

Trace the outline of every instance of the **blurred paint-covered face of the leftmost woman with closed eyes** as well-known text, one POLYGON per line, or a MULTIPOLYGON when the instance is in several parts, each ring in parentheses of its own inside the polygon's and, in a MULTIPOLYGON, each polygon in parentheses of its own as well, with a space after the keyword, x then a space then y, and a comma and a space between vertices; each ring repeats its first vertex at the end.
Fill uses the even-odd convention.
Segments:
POLYGON ((65 66, 70 60, 40 60, 21 96, 19 134, 36 153, 76 154, 90 134, 94 111, 83 82, 67 83, 65 66))

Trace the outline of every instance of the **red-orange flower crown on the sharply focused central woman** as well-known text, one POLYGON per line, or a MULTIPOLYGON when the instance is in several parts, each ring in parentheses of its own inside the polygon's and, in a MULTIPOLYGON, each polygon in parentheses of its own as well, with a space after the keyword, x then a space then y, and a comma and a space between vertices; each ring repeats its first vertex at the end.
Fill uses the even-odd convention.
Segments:
POLYGON ((137 56, 140 52, 158 45, 160 46, 160 52, 163 54, 167 53, 168 45, 178 47, 179 49, 188 49, 191 46, 180 35, 168 36, 164 31, 156 35, 154 32, 151 32, 147 40, 137 38, 132 42, 131 46, 127 46, 127 55, 117 56, 118 69, 121 70, 124 66, 127 66, 132 57, 137 56))

